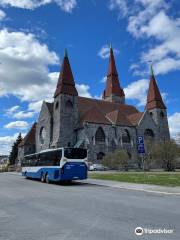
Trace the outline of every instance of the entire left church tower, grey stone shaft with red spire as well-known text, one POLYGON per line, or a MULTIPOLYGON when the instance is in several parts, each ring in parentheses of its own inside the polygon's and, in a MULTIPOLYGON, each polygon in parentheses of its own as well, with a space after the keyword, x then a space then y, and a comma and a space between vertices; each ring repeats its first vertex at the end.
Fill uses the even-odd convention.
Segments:
POLYGON ((54 93, 53 147, 74 146, 74 128, 78 120, 78 92, 65 51, 61 72, 54 93))

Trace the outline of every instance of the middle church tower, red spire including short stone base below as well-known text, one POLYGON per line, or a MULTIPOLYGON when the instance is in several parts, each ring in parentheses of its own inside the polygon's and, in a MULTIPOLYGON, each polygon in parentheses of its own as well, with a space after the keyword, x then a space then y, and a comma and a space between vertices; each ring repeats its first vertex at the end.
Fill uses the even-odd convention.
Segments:
POLYGON ((125 94, 119 83, 112 47, 110 47, 109 69, 103 99, 109 102, 125 104, 125 94))

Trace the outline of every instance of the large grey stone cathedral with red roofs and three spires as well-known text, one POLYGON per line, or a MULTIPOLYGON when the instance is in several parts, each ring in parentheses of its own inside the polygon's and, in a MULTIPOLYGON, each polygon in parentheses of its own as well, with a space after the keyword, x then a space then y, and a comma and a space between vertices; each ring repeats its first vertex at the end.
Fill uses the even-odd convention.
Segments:
POLYGON ((137 136, 164 141, 170 138, 166 106, 151 69, 143 112, 126 104, 113 49, 110 48, 102 100, 78 96, 67 52, 63 59, 54 101, 43 102, 37 123, 19 146, 19 158, 48 148, 88 149, 88 160, 100 162, 116 149, 126 149, 129 163, 137 155, 137 136))

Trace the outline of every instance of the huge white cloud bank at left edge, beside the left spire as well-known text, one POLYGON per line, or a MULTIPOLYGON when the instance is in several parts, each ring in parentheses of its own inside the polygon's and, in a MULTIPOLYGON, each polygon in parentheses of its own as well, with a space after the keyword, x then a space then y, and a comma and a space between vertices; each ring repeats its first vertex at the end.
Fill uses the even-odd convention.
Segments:
POLYGON ((30 102, 52 97, 54 83, 48 66, 59 62, 55 52, 33 34, 6 29, 0 31, 0 46, 1 96, 13 94, 30 102))

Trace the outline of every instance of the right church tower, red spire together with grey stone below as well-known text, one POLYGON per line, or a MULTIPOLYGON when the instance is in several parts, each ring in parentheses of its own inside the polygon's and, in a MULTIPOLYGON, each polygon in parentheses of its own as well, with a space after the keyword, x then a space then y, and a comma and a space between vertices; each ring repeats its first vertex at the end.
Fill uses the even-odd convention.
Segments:
POLYGON ((160 138, 163 140, 168 140, 170 138, 170 134, 166 106, 161 97, 161 93, 159 91, 152 66, 146 110, 149 112, 154 122, 159 127, 160 138))

